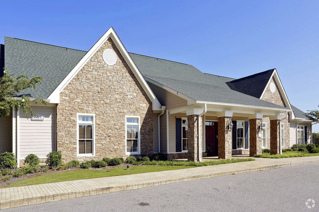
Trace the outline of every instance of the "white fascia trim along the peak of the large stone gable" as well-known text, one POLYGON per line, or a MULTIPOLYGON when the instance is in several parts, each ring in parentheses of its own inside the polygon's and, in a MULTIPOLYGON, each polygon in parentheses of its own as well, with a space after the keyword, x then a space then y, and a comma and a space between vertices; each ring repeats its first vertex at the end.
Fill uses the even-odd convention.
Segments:
POLYGON ((114 31, 113 27, 109 28, 106 33, 94 44, 93 47, 84 55, 84 57, 80 60, 80 62, 72 69, 72 71, 63 79, 63 81, 56 87, 52 94, 48 97, 50 99, 50 103, 59 103, 60 93, 63 89, 69 84, 69 82, 77 75, 77 73, 83 68, 83 66, 89 61, 89 59, 96 53, 97 50, 102 47, 102 45, 106 42, 108 38, 111 38, 119 49, 120 53, 122 54, 124 60, 129 65, 130 69, 133 71, 136 79, 141 84, 142 88, 148 95, 148 97, 152 101, 153 110, 160 110, 161 105, 159 100, 156 98, 155 94, 152 92, 151 88, 146 83, 144 77, 142 76, 141 72, 138 70, 137 66, 133 62, 131 56, 129 55, 128 51, 122 44, 121 40, 117 36, 116 32, 114 31))

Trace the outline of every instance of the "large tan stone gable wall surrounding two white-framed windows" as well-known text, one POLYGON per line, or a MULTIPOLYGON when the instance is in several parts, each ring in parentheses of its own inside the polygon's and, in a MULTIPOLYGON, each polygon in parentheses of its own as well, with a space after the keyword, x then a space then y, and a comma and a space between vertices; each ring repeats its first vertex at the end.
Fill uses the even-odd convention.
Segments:
POLYGON ((125 116, 140 117, 140 153, 153 153, 152 102, 109 38, 60 94, 56 107, 57 150, 64 161, 126 157, 125 116), (103 61, 113 49, 117 62, 103 61), (77 113, 95 114, 95 156, 77 157, 77 113))

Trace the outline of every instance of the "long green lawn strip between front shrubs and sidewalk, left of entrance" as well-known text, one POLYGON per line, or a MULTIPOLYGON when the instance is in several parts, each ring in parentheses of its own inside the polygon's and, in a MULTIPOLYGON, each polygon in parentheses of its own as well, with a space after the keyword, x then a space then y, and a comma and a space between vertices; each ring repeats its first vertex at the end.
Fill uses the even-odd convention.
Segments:
POLYGON ((63 181, 99 178, 99 177, 110 177, 110 176, 120 176, 127 174, 138 174, 146 172, 155 171, 166 171, 174 169, 192 168, 196 166, 206 166, 206 165, 219 165, 219 164, 232 164, 245 161, 254 161, 255 159, 227 159, 227 160, 217 160, 208 162, 189 162, 189 161, 146 161, 139 162, 139 164, 146 164, 147 166, 130 166, 130 170, 126 170, 126 167, 117 167, 105 170, 94 170, 94 169, 83 169, 75 171, 65 171, 59 173, 45 174, 38 177, 28 178, 25 180, 20 180, 15 183, 10 184, 7 188, 19 187, 19 186, 29 186, 44 183, 56 183, 63 181), (153 164, 153 165, 149 165, 153 164), (154 165, 159 164, 159 165, 154 165))

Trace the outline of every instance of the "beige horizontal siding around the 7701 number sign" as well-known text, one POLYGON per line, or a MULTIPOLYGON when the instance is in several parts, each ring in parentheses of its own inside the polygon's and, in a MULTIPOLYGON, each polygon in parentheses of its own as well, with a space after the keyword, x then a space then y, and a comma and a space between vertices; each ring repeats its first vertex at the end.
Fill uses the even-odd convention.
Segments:
POLYGON ((32 121, 20 110, 20 159, 28 154, 45 158, 55 150, 55 108, 49 106, 32 106, 34 114, 42 114, 43 121, 32 121))

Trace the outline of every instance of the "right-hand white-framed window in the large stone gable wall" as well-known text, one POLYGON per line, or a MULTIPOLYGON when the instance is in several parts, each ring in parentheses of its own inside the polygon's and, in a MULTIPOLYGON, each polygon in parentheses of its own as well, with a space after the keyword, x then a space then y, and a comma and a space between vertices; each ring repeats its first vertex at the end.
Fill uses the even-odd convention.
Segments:
POLYGON ((140 153, 140 123, 139 117, 126 116, 125 117, 125 148, 127 155, 140 153))

